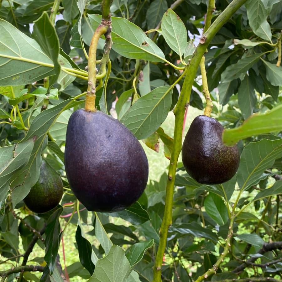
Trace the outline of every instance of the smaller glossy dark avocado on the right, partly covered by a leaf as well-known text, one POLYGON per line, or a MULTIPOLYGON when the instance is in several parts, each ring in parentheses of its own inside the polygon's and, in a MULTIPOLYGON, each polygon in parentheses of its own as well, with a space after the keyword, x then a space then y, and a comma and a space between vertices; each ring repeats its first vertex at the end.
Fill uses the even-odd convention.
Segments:
POLYGON ((238 170, 240 154, 237 146, 222 142, 223 126, 214 118, 197 116, 182 145, 185 170, 201 184, 221 184, 238 170))

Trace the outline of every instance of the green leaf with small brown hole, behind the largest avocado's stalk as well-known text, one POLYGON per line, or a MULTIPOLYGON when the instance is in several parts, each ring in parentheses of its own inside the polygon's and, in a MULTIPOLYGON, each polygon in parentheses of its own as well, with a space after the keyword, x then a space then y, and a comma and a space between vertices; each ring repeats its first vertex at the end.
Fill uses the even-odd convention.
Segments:
MULTIPOLYGON (((101 15, 88 15, 93 29, 101 23, 101 15)), ((112 49, 129 59, 162 62, 162 50, 143 30, 125 18, 112 17, 112 49)))

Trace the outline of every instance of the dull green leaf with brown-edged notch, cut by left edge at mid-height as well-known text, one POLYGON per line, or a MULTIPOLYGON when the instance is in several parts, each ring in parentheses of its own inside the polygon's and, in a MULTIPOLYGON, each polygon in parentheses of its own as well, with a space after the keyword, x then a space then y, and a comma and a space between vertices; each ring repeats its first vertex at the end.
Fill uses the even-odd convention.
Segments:
POLYGON ((0 147, 0 214, 4 214, 10 179, 16 171, 29 161, 34 146, 34 139, 6 147, 0 147))

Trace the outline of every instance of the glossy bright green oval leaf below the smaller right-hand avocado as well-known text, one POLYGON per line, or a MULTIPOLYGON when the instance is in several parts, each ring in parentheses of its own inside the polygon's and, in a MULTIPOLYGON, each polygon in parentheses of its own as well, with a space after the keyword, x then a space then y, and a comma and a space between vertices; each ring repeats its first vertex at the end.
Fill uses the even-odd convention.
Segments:
POLYGON ((204 201, 206 213, 220 226, 228 220, 227 207, 221 197, 209 193, 204 201))

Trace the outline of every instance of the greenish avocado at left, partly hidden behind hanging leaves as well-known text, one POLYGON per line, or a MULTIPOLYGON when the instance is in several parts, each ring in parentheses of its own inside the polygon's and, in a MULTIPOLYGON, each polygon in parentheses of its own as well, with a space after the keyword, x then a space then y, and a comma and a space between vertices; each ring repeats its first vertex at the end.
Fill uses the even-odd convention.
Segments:
POLYGON ((39 179, 24 198, 24 203, 32 212, 48 212, 59 204, 63 190, 60 175, 42 160, 39 179))

